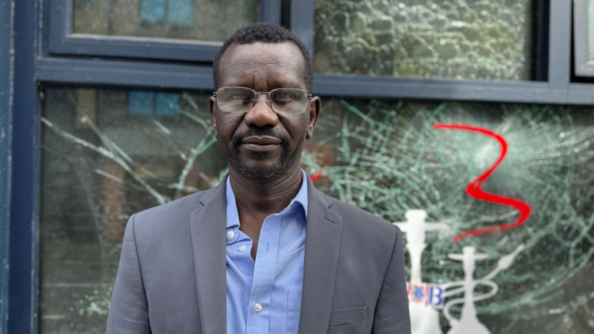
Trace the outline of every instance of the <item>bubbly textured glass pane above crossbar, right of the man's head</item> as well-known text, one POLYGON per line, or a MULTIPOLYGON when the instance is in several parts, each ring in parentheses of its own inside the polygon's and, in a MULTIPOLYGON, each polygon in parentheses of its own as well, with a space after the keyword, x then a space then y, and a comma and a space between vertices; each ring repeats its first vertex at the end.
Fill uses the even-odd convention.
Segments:
POLYGON ((532 0, 315 0, 317 73, 530 80, 532 0))

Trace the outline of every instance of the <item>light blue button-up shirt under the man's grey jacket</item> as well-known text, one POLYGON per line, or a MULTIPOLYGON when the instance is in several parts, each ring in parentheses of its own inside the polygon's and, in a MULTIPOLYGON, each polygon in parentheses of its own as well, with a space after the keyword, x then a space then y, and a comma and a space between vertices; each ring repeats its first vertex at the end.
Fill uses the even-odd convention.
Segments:
POLYGON ((301 310, 307 179, 280 213, 264 219, 256 261, 252 239, 239 231, 235 195, 227 178, 227 333, 296 334, 301 310))

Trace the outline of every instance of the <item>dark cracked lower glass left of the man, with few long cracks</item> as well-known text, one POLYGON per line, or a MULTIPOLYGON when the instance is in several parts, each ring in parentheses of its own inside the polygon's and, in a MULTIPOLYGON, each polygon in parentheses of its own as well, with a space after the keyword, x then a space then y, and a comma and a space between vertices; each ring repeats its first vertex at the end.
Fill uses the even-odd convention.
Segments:
POLYGON ((50 88, 42 138, 42 333, 105 333, 125 224, 217 184, 207 93, 50 88))

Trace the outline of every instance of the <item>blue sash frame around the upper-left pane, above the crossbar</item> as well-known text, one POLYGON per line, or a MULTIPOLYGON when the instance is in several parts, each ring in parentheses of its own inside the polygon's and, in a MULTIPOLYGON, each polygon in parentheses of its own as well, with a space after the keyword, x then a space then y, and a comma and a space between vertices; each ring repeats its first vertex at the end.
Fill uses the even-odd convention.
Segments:
MULTIPOLYGON (((222 42, 71 33, 72 1, 48 0, 50 55, 211 62, 222 42)), ((280 24, 280 0, 262 0, 262 21, 280 24)))

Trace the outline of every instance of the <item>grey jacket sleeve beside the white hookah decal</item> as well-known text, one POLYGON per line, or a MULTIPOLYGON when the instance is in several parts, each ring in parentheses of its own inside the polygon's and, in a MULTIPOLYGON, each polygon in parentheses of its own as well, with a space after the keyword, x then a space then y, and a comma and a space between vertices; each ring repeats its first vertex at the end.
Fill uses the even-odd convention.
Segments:
POLYGON ((410 334, 410 313, 406 292, 405 253, 402 231, 396 228, 396 242, 375 305, 372 334, 410 334))

